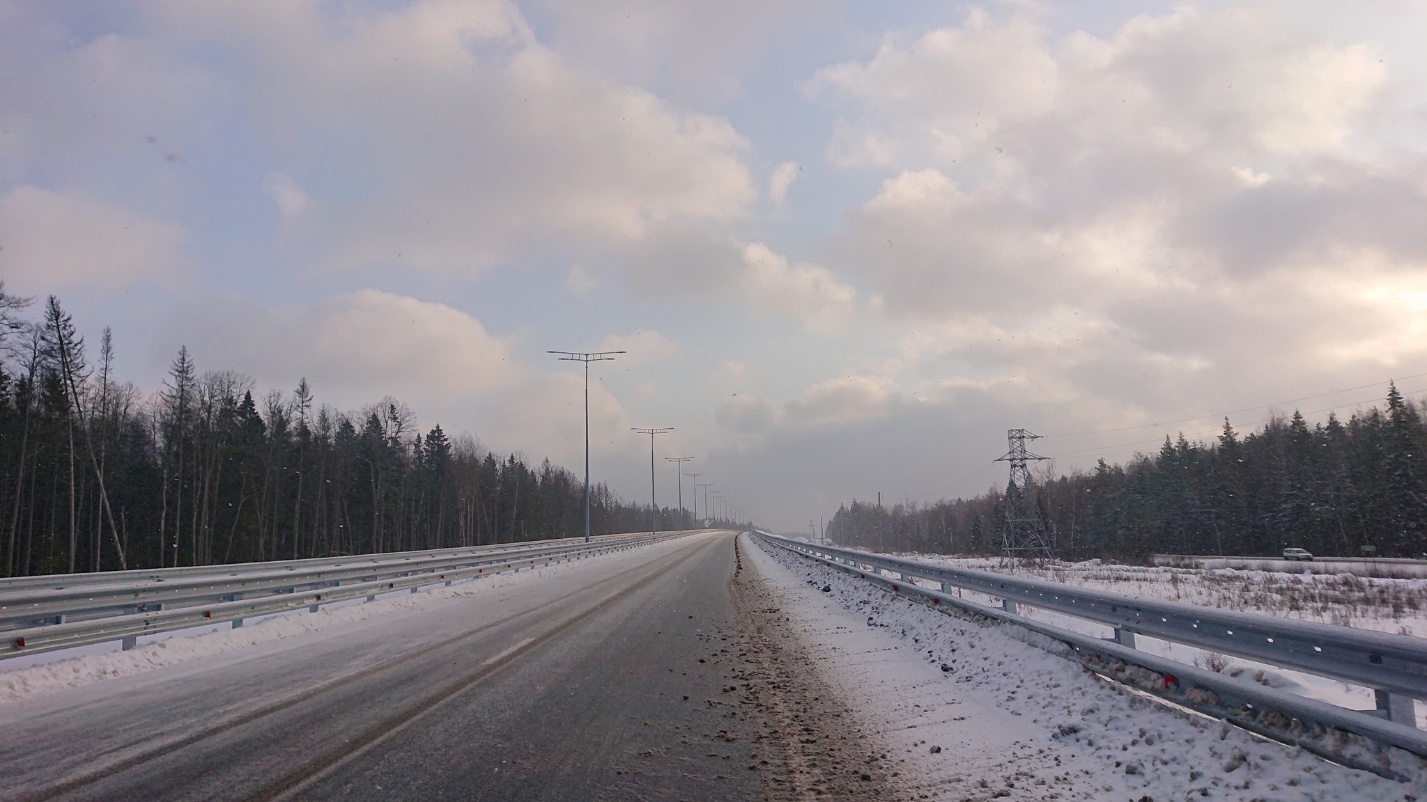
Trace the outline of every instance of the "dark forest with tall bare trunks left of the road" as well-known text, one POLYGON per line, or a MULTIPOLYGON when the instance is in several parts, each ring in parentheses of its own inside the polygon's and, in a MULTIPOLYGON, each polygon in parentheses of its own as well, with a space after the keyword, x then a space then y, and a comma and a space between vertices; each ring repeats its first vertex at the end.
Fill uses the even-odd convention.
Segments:
MULTIPOLYGON (((387 397, 360 411, 307 385, 258 392, 187 348, 144 394, 113 374, 54 297, 0 283, 0 575, 481 545, 584 534, 584 478, 421 432, 387 397), (31 320, 31 314, 33 318, 31 320)), ((591 532, 651 524, 591 488, 591 532)), ((661 507, 659 528, 679 511, 661 507)))

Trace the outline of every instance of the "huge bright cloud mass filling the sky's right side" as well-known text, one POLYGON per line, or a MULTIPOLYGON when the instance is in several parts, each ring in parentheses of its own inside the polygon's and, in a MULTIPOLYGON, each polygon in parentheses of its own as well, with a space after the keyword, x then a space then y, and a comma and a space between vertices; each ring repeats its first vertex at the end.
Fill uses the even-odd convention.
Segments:
POLYGON ((888 174, 829 267, 903 344, 936 341, 898 360, 909 387, 1182 407, 1400 362, 1424 351, 1394 293, 1427 267, 1427 150, 1381 134, 1423 133, 1381 56, 1254 9, 1095 37, 1002 7, 890 36, 806 84, 841 114, 829 157, 888 174))

